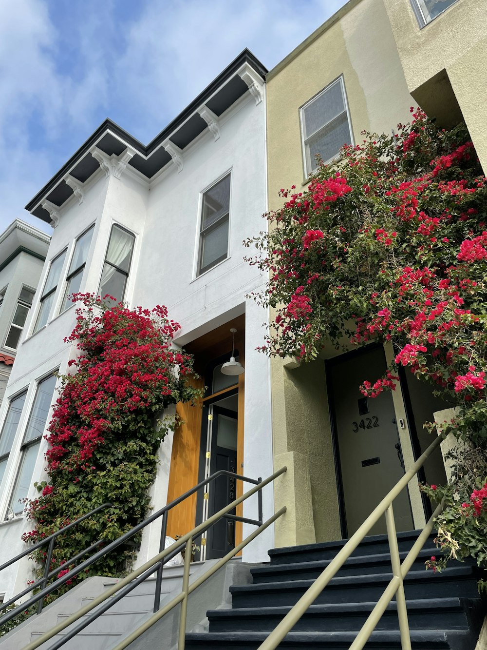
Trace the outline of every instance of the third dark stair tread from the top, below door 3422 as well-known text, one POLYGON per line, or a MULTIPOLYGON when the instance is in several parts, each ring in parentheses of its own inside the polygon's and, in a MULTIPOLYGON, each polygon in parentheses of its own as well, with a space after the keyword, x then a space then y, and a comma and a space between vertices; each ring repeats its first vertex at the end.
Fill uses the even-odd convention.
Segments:
MULTIPOLYGON (((443 569, 441 573, 431 573, 427 571, 409 571, 406 575, 404 582, 429 582, 431 580, 441 581, 449 580, 451 578, 460 578, 466 580, 474 578, 474 569, 470 565, 458 566, 443 569)), ((326 589, 333 587, 350 587, 353 589, 381 585, 390 582, 392 573, 374 573, 371 575, 347 575, 342 577, 332 578, 327 584, 326 589)), ((230 588, 231 593, 243 593, 245 591, 251 593, 256 591, 283 591, 284 589, 290 590, 303 590, 307 589, 314 583, 314 580, 286 580, 286 582, 258 582, 256 584, 232 585, 230 588)))

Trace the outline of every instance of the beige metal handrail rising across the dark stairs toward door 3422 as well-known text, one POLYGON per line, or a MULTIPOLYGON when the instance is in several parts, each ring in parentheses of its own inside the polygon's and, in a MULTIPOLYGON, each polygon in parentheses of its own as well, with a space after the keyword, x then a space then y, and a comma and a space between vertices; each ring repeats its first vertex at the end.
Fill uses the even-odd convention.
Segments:
POLYGON ((402 650, 411 650, 411 637, 408 625, 408 613, 406 609, 403 580, 409 569, 412 567, 414 560, 418 557, 419 551, 423 548, 429 534, 431 534, 434 518, 442 512, 443 501, 432 514, 431 519, 429 519, 427 525, 419 534, 418 539, 412 546, 410 552, 408 552, 402 564, 399 556, 399 547, 397 545, 392 502, 397 495, 399 495, 401 490, 407 486, 408 482, 413 478, 418 470, 423 467, 425 460, 431 456, 432 452, 434 452, 436 447, 440 445, 442 440, 443 434, 438 435, 436 440, 427 448, 427 450, 419 456, 416 463, 414 463, 411 469, 404 474, 388 495, 382 499, 377 508, 375 508, 375 510, 373 510, 373 512, 367 517, 362 526, 358 528, 355 534, 353 534, 353 536, 343 546, 342 550, 336 554, 327 568, 318 576, 318 578, 316 578, 310 588, 305 591, 299 601, 297 601, 293 606, 292 610, 290 610, 290 612, 288 612, 288 614, 286 614, 282 619, 281 623, 279 623, 271 634, 269 634, 264 643, 259 645, 258 650, 275 650, 275 648, 277 648, 284 636, 292 630, 297 621, 299 621, 301 616, 305 614, 306 610, 318 598, 321 591, 323 591, 345 561, 351 556, 353 551, 355 551, 356 547, 358 547, 360 542, 368 534, 372 526, 375 525, 384 514, 386 515, 387 536, 391 553, 392 580, 390 580, 384 593, 382 593, 381 598, 369 614, 368 619, 362 626, 362 629, 360 629, 360 632, 358 632, 355 641, 352 643, 349 650, 362 650, 364 645, 368 642, 369 636, 375 629, 382 614, 384 614, 388 604, 392 601, 394 595, 396 595, 399 630, 401 631, 401 648, 402 650))

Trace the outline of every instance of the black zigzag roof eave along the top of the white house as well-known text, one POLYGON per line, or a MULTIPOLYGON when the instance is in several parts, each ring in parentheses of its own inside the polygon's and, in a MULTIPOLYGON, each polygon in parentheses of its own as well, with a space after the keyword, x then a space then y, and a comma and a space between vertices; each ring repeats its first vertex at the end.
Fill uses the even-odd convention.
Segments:
MULTIPOLYGON (((221 72, 216 79, 206 86, 205 90, 201 92, 184 110, 179 113, 179 115, 170 122, 166 128, 161 131, 156 137, 149 142, 147 146, 144 146, 142 142, 134 138, 134 136, 127 133, 125 129, 122 129, 116 122, 113 122, 110 119, 106 119, 104 122, 99 125, 99 127, 90 135, 88 140, 86 140, 82 146, 74 153, 68 162, 62 166, 62 168, 44 185, 44 187, 34 196, 34 198, 27 203, 25 209, 29 212, 32 212, 39 205, 46 196, 51 194, 53 189, 64 179, 64 176, 68 174, 69 170, 72 170, 77 162, 90 152, 95 144, 100 140, 100 138, 107 132, 110 131, 114 136, 118 137, 127 145, 131 146, 135 151, 140 153, 144 157, 149 157, 155 149, 157 149, 164 140, 166 140, 174 131, 176 131, 192 114, 197 110, 201 105, 205 103, 221 86, 225 84, 225 81, 231 79, 234 76, 236 71, 243 66, 243 64, 248 63, 255 72, 257 72, 262 79, 265 79, 265 75, 268 72, 262 63, 256 59, 256 57, 251 53, 249 49, 244 49, 236 59, 234 59, 223 72, 221 72)), ((47 213, 46 213, 47 214, 47 213)), ((49 219, 46 219, 49 221, 49 219)))

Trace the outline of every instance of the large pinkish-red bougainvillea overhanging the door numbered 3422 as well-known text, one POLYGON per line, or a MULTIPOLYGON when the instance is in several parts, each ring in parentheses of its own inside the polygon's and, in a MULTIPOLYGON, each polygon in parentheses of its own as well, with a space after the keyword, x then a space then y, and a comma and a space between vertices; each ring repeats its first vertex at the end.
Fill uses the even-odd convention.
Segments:
POLYGON ((410 125, 366 134, 338 165, 321 164, 303 192, 281 196, 268 232, 245 242, 269 275, 255 296, 275 314, 262 350, 309 361, 325 341, 343 350, 390 341, 395 362, 364 382, 364 395, 395 389, 401 365, 458 405, 445 428, 479 461, 460 454, 452 484, 425 489, 447 503, 439 541, 483 563, 487 182, 465 125, 445 131, 417 110, 410 125))

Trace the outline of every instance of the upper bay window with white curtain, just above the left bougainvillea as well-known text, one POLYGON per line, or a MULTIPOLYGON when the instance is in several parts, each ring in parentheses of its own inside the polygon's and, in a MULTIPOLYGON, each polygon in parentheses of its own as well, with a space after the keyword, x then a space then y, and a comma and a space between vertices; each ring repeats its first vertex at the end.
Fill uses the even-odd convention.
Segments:
POLYGON ((112 226, 98 290, 102 298, 108 294, 117 302, 123 300, 131 267, 134 240, 135 236, 129 231, 115 224, 112 226))

